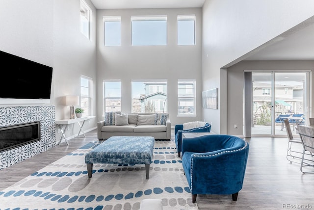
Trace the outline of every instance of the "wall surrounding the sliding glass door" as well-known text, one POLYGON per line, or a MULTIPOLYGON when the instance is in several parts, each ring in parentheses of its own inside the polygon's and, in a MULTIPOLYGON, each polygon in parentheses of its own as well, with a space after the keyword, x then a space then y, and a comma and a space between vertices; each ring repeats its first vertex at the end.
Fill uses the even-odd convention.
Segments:
MULTIPOLYGON (((228 96, 227 101, 227 133, 234 135, 243 135, 243 92, 244 92, 244 71, 254 70, 276 70, 276 71, 304 71, 313 70, 314 61, 241 61, 227 69, 227 83, 228 83, 228 96), (233 125, 237 124, 237 129, 234 129, 233 125)), ((314 74, 311 75, 311 80, 314 74)), ((310 88, 310 94, 313 87, 310 88)), ((309 102, 307 109, 309 113, 313 112, 313 97, 309 102)))

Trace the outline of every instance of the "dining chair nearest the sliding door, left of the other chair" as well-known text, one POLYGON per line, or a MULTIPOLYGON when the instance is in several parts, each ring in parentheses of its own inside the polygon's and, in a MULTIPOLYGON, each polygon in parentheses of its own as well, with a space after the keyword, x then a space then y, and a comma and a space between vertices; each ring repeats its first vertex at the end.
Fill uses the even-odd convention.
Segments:
POLYGON ((288 149, 287 149, 287 159, 290 161, 290 163, 295 162, 295 163, 300 163, 300 161, 296 161, 295 159, 301 159, 301 155, 303 154, 300 151, 296 151, 295 149, 292 150, 292 145, 294 143, 296 144, 302 144, 301 138, 300 137, 293 137, 289 119, 284 120, 285 127, 286 127, 286 132, 288 136, 288 149))

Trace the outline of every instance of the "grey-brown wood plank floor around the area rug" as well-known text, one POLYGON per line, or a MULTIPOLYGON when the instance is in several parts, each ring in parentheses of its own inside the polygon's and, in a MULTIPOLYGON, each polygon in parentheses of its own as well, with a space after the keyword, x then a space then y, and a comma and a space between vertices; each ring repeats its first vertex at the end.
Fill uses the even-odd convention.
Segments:
MULTIPOLYGON (((69 140, 68 146, 56 146, 1 169, 0 190, 95 139, 96 130, 90 131, 86 133, 86 138, 77 137, 69 140)), ((250 152, 243 188, 238 194, 237 201, 232 201, 231 195, 198 195, 196 203, 199 210, 314 209, 314 174, 303 175, 299 164, 291 164, 286 159, 287 138, 256 137, 246 140, 250 144, 250 152)), ((297 146, 302 151, 301 145, 297 146)))

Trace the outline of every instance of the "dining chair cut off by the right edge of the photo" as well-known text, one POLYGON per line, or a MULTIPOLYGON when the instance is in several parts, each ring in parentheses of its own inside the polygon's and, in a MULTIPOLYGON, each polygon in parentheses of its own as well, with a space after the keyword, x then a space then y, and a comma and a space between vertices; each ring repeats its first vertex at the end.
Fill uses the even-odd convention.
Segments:
POLYGON ((314 170, 304 169, 304 167, 314 167, 314 128, 311 126, 298 125, 298 131, 303 145, 303 154, 301 160, 300 171, 303 174, 314 173, 314 170), (305 158, 310 155, 312 158, 305 158))

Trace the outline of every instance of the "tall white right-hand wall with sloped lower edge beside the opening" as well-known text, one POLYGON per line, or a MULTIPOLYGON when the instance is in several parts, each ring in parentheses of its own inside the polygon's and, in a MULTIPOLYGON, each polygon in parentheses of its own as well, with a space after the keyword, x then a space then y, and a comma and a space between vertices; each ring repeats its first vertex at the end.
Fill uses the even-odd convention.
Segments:
POLYGON ((310 18, 314 15, 312 8, 312 0, 205 1, 203 90, 219 88, 219 108, 204 109, 203 115, 213 122, 213 132, 227 133, 227 74, 220 69, 310 18))

